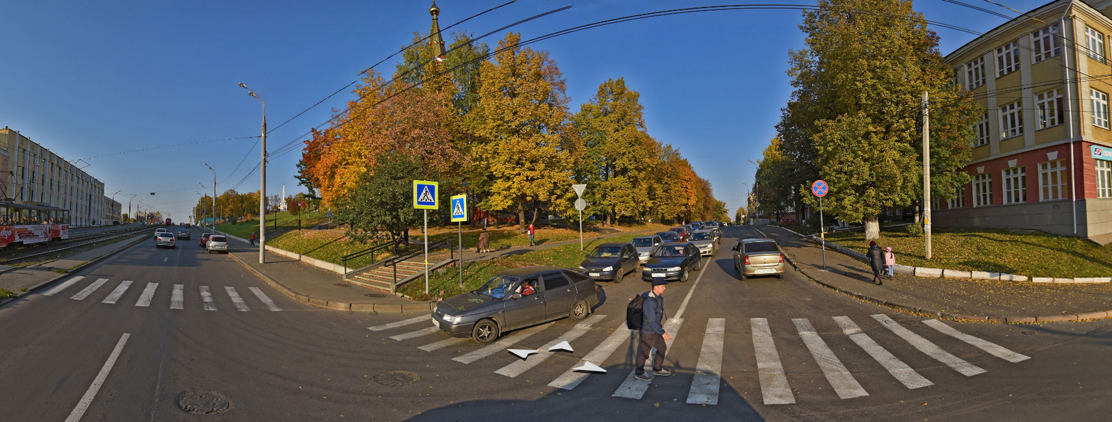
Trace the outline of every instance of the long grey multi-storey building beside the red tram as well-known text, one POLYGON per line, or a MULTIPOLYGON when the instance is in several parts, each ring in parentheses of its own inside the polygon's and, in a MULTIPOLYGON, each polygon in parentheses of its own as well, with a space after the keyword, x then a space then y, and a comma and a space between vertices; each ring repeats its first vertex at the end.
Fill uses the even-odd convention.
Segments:
POLYGON ((73 226, 103 224, 102 181, 7 126, 0 129, 0 150, 8 154, 0 167, 8 175, 0 200, 67 208, 73 226))

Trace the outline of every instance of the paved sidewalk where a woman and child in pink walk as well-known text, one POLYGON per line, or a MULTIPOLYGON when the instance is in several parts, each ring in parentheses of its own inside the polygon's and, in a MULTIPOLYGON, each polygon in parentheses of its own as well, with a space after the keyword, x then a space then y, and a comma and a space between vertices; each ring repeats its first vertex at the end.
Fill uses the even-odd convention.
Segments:
MULTIPOLYGON (((925 278, 896 274, 872 283, 868 264, 826 251, 791 230, 759 226, 776 241, 790 262, 807 277, 851 296, 888 307, 933 316, 991 322, 1055 322, 1112 316, 1112 285, 1040 284, 992 279, 925 278)), ((896 263, 898 263, 898 256, 896 263)))

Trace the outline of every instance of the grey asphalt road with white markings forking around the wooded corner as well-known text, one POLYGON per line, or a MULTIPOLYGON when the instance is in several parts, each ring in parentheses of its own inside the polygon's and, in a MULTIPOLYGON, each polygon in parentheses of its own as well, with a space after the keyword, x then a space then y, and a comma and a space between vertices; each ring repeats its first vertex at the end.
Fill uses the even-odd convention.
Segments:
POLYGON ((945 322, 974 343, 1030 356, 1013 363, 940 332, 923 322, 929 318, 857 302, 792 269, 783 279, 737 281, 729 246, 761 235, 748 227, 725 235, 691 282, 668 286, 668 316, 683 320, 672 322, 678 331, 665 364, 675 375, 643 385, 626 383, 636 351, 620 327, 628 298, 647 289, 636 277, 604 286, 606 301, 585 320, 589 327, 560 320, 507 333, 485 349, 426 333, 428 321, 367 330, 423 314, 348 314, 292 303, 228 256, 206 255, 196 241, 176 249, 140 243, 78 273, 85 278, 53 295, 48 289, 0 308, 0 419, 63 421, 83 402, 82 421, 1112 419, 1108 322, 945 322), (107 281, 88 296, 71 298, 100 278, 107 281), (103 303, 125 281, 132 283, 118 301, 103 303), (148 283, 158 283, 150 305, 136 306, 148 283), (182 286, 180 310, 171 308, 173 285, 182 286), (209 286, 216 311, 205 310, 201 286, 209 286), (249 311, 237 311, 226 287, 249 311), (270 311, 250 287, 281 311, 270 311), (883 315, 893 327, 882 324, 883 315), (843 316, 841 323, 852 321, 861 334, 846 335, 834 318, 843 316), (765 323, 767 335, 761 334, 765 323), (906 333, 910 341, 901 336, 906 333), (515 340, 515 349, 542 351, 568 340, 575 352, 522 361, 504 351, 515 340), (606 344, 613 353, 602 351, 606 344), (115 350, 118 359, 106 373, 115 350), (569 390, 548 385, 567 380, 588 354, 607 374, 569 390), (886 370, 900 364, 906 367, 886 370), (99 391, 82 401, 98 375, 99 391), (693 384, 701 386, 695 393, 693 384), (207 415, 179 409, 182 393, 210 391, 230 408, 207 415), (641 399, 614 396, 638 392, 641 399))

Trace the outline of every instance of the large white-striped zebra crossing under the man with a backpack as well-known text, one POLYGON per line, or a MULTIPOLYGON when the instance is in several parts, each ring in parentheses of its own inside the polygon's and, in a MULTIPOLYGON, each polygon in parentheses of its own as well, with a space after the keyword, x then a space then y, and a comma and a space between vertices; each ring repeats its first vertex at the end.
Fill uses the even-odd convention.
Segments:
MULTIPOLYGON (((876 335, 882 335, 884 331, 891 332, 895 335, 894 340, 888 338, 887 342, 894 342, 896 344, 888 345, 887 347, 902 347, 901 353, 907 353, 906 351, 910 346, 911 350, 934 359, 965 376, 973 376, 987 371, 957 357, 951 352, 947 352, 942 345, 940 345, 941 343, 929 341, 920 333, 916 333, 916 331, 922 331, 924 334, 932 331, 945 334, 946 336, 952 337, 951 340, 959 340, 969 345, 973 345, 991 356, 999 357, 1010 363, 1019 363, 1031 359, 1030 356, 1013 352, 987 340, 963 333, 956 327, 939 320, 920 321, 922 325, 913 324, 911 327, 907 327, 896 323, 890 316, 884 314, 870 315, 870 317, 880 323, 881 327, 876 327, 876 330, 878 330, 876 335), (917 327, 922 327, 922 330, 917 327)), ((403 327, 410 330, 405 333, 390 336, 390 338, 397 341, 421 338, 425 336, 440 336, 438 340, 417 346, 417 349, 426 352, 435 352, 470 341, 466 337, 460 338, 447 336, 447 334, 440 333, 440 330, 436 326, 413 327, 415 324, 427 323, 429 320, 429 315, 423 315, 399 322, 369 326, 367 328, 375 332, 403 327)), ((586 372, 573 371, 574 367, 582 366, 584 363, 592 363, 605 367, 606 362, 618 347, 627 345, 631 342, 636 342, 636 334, 625 328, 624 318, 620 321, 609 322, 605 320, 606 315, 592 315, 587 320, 576 323, 574 326, 564 326, 563 328, 565 328, 565 332, 563 333, 557 333, 556 330, 552 330, 552 327, 560 326, 553 323, 512 332, 493 344, 488 344, 468 353, 451 357, 451 361, 470 364, 486 357, 505 355, 507 347, 513 347, 534 335, 544 334, 545 337, 552 338, 544 346, 537 347, 542 351, 540 353, 529 355, 524 360, 515 360, 514 362, 494 371, 499 375, 515 377, 543 365, 547 357, 553 354, 552 352, 546 352, 548 346, 557 344, 562 341, 569 341, 576 346, 577 350, 585 350, 586 347, 583 346, 583 340, 579 340, 580 337, 593 328, 602 327, 603 330, 606 330, 612 327, 614 323, 617 322, 618 324, 614 331, 606 335, 600 343, 586 352, 575 365, 568 366, 565 372, 548 383, 548 386, 562 390, 574 390, 592 375, 586 372), (576 342, 579 344, 576 344, 576 342)), ((903 360, 888 352, 888 349, 882 346, 876 340, 866 334, 865 331, 863 331, 853 321, 853 318, 848 316, 833 316, 830 320, 823 320, 824 321, 820 322, 820 325, 836 327, 837 330, 835 333, 840 332, 840 334, 820 334, 820 331, 815 328, 816 324, 813 324, 808 318, 791 318, 791 323, 795 327, 794 332, 776 332, 772 328, 767 318, 749 318, 748 326, 751 328, 749 336, 752 337, 753 343, 753 354, 747 355, 748 351, 745 350, 746 347, 739 347, 736 344, 731 347, 731 343, 736 342, 736 337, 727 338, 728 332, 726 327, 729 326, 729 324, 727 324, 726 318, 708 318, 706 321, 706 330, 703 334, 702 346, 699 347, 698 362, 696 363, 693 373, 689 373, 691 385, 686 402, 689 404, 701 405, 718 404, 719 389, 724 373, 723 356, 724 354, 729 353, 741 353, 744 356, 742 360, 743 362, 747 362, 746 364, 756 366, 756 371, 752 371, 751 366, 749 369, 734 369, 733 371, 727 370, 725 372, 743 374, 755 373, 755 376, 758 377, 763 404, 796 404, 796 396, 793 393, 793 387, 791 385, 792 382, 787 376, 792 372, 786 371, 785 367, 798 367, 797 365, 808 365, 806 367, 813 367, 810 365, 815 363, 817 363, 818 369, 826 379, 826 382, 840 400, 852 400, 867 396, 870 395, 868 391, 866 391, 865 387, 857 381, 857 377, 854 376, 853 370, 856 369, 862 373, 872 371, 868 369, 852 367, 854 365, 847 366, 843 362, 843 360, 847 356, 843 355, 840 357, 838 353, 846 354, 848 352, 843 351, 835 353, 828 344, 828 342, 835 341, 836 338, 834 337, 840 335, 845 336, 853 344, 857 345, 861 351, 865 353, 865 355, 883 366, 893 379, 902 383, 907 389, 914 390, 934 385, 932 381, 924 377, 903 360), (781 353, 776 347, 777 343, 792 342, 792 344, 795 344, 795 338, 798 338, 798 342, 805 346, 804 350, 807 351, 806 355, 810 355, 808 361, 796 362, 797 360, 782 360, 781 353)), ((868 320, 868 317, 864 317, 863 320, 868 320)), ((666 331, 672 333, 673 338, 677 336, 682 323, 683 320, 672 318, 665 324, 666 331)), ((688 336, 689 335, 692 334, 688 334, 688 336)), ((735 332, 735 336, 737 334, 735 332)), ((671 353, 673 353, 671 351, 672 345, 668 344, 668 346, 671 355, 671 353)), ((649 362, 652 362, 652 359, 649 359, 649 362)), ((612 362, 612 366, 617 363, 618 362, 612 362)), ((858 363, 857 366, 860 365, 861 364, 858 363)), ((883 372, 881 373, 883 374, 883 372)), ((622 376, 620 382, 618 379, 609 376, 610 374, 604 374, 602 375, 604 381, 600 382, 608 381, 620 383, 613 394, 615 398, 639 400, 644 396, 649 383, 636 380, 632 376, 632 374, 633 371, 628 374, 622 373, 619 375, 622 376)), ((598 376, 598 374, 595 375, 596 377, 598 376)), ((684 376, 685 374, 677 375, 684 376)))

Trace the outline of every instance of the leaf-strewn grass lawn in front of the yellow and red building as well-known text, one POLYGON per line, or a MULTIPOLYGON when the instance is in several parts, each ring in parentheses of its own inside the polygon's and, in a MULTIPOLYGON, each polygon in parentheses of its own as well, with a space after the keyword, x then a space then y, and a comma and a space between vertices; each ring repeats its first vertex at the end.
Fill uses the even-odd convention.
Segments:
MULTIPOLYGON (((832 233, 826 239, 861 253, 868 249, 863 232, 832 233)), ((882 229, 876 243, 891 246, 897 264, 911 266, 1033 277, 1112 276, 1112 247, 1041 232, 934 229, 931 261, 925 258, 923 237, 913 237, 903 227, 882 229)))

